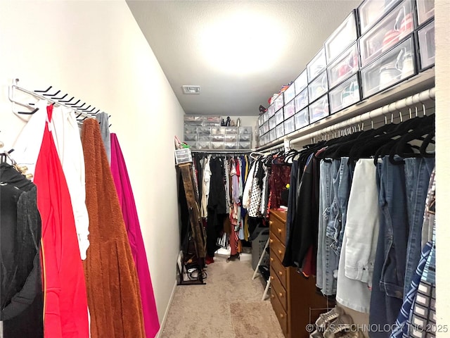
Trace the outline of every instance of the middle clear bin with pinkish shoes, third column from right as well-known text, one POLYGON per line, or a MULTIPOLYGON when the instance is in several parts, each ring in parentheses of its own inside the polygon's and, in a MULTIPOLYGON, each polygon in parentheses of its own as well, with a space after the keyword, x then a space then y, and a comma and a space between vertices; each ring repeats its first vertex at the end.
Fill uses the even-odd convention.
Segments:
POLYGON ((353 44, 339 58, 328 65, 328 87, 334 88, 359 70, 358 46, 353 44))

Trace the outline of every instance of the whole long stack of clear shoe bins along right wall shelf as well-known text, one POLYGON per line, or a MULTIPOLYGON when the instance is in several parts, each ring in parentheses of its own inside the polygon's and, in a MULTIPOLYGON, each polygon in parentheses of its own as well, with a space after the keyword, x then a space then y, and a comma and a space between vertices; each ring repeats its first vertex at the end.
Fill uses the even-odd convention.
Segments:
POLYGON ((365 0, 259 116, 259 146, 435 64, 434 0, 365 0))

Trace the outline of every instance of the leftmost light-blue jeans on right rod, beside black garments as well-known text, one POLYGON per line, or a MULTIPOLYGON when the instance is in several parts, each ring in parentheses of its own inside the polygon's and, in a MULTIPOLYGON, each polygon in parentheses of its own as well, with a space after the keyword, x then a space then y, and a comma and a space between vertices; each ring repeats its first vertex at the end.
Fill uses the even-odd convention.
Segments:
POLYGON ((316 286, 322 293, 330 296, 336 293, 335 270, 338 268, 338 256, 331 248, 334 240, 327 236, 330 207, 333 203, 333 163, 321 161, 319 199, 319 238, 317 244, 316 286))

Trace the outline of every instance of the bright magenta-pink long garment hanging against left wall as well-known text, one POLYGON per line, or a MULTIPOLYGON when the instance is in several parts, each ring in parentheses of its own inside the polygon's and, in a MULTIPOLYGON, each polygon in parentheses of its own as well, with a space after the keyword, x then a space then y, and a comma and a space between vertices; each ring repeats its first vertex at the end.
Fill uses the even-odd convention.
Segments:
POLYGON ((111 173, 113 174, 114 184, 117 189, 117 195, 119 196, 120 207, 122 208, 125 226, 127 227, 129 244, 139 277, 146 337, 153 338, 158 333, 158 330, 160 330, 155 295, 153 294, 146 248, 143 244, 141 225, 139 225, 127 165, 125 164, 117 135, 114 133, 111 133, 111 173))

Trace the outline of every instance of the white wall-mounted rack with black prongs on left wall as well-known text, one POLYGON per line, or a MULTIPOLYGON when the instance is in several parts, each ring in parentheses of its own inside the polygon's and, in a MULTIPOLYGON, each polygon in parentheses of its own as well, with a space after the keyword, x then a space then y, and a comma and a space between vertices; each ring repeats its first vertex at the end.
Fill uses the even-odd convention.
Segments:
MULTIPOLYGON (((21 104, 20 102, 15 101, 15 100, 13 99, 13 92, 14 92, 14 89, 17 89, 17 90, 19 90, 20 92, 24 92, 25 94, 29 94, 29 95, 31 95, 31 96, 34 96, 34 97, 36 97, 37 99, 42 99, 42 100, 45 100, 45 101, 52 102, 53 104, 58 104, 59 106, 64 106, 64 107, 66 107, 66 108, 72 109, 72 111, 75 111, 75 112, 77 113, 77 118, 79 118, 80 115, 83 116, 83 117, 85 117, 85 118, 95 118, 95 115, 96 115, 97 113, 100 113, 100 112, 101 112, 100 109, 98 109, 98 110, 94 113, 94 111, 96 110, 96 107, 91 108, 91 105, 86 106, 86 108, 83 108, 83 109, 81 110, 80 108, 82 108, 83 106, 85 106, 86 103, 82 104, 81 106, 77 106, 77 107, 75 108, 74 106, 77 105, 77 104, 79 104, 79 102, 81 101, 81 100, 77 100, 75 104, 72 104, 72 105, 69 104, 69 102, 72 101, 72 99, 75 99, 75 97, 72 97, 72 99, 70 99, 70 100, 65 100, 65 101, 58 101, 58 99, 56 99, 56 98, 51 98, 51 96, 56 96, 56 95, 60 94, 60 90, 58 90, 58 92, 56 92, 56 93, 54 93, 54 94, 45 94, 46 92, 48 92, 48 91, 52 88, 51 86, 50 86, 49 88, 47 88, 46 90, 39 91, 39 92, 44 93, 44 94, 38 94, 37 92, 32 92, 32 91, 30 91, 30 90, 28 90, 28 89, 25 89, 25 88, 23 88, 23 87, 19 87, 19 86, 18 86, 18 82, 19 82, 19 79, 14 79, 14 80, 13 80, 13 84, 11 84, 11 87, 9 88, 10 90, 8 91, 8 98, 9 98, 9 101, 11 101, 11 102, 13 102, 13 103, 15 103, 15 104, 19 104, 20 106, 26 106, 26 105, 25 105, 25 104, 21 104), (65 102, 65 103, 64 103, 64 102, 65 102), (90 110, 89 110, 89 108, 90 108, 90 110)), ((63 95, 62 97, 59 98, 59 100, 65 99, 65 96, 68 96, 68 94, 63 95)))

